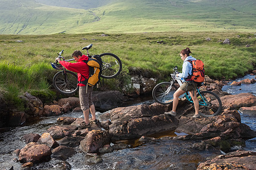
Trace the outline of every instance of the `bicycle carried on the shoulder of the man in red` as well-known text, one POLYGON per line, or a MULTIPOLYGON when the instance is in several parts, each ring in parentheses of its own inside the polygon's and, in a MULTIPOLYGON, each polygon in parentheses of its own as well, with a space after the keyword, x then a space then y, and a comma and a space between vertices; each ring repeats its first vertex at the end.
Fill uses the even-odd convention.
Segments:
MULTIPOLYGON (((88 57, 93 57, 93 55, 89 54, 89 49, 92 48, 92 44, 85 46, 82 50, 86 50, 86 54, 88 57)), ((63 61, 74 61, 75 59, 67 59, 61 54, 63 54, 64 50, 61 50, 60 53, 57 53, 59 58, 62 58, 63 61)), ((102 73, 101 77, 105 79, 115 78, 122 70, 122 62, 115 54, 112 53, 102 53, 99 55, 102 59, 102 73)), ((73 73, 65 69, 65 67, 61 66, 59 63, 51 63, 53 69, 61 70, 53 76, 53 87, 60 92, 60 94, 64 95, 72 95, 79 90, 77 86, 77 74, 73 73)))

